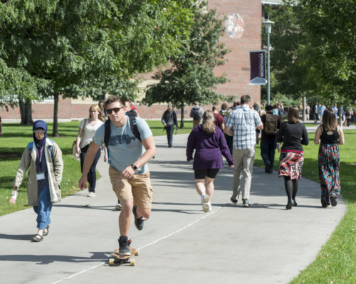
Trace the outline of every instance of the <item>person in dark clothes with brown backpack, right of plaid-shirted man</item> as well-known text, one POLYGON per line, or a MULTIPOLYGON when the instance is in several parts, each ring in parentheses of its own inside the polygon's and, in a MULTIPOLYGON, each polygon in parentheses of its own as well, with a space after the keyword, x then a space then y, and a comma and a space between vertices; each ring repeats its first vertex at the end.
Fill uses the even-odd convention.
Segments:
POLYGON ((266 114, 261 116, 263 123, 263 130, 261 134, 261 157, 265 165, 265 172, 268 174, 273 173, 274 155, 276 152, 276 135, 281 120, 278 115, 273 115, 272 105, 266 105, 266 114))

